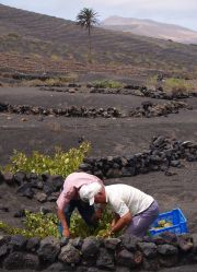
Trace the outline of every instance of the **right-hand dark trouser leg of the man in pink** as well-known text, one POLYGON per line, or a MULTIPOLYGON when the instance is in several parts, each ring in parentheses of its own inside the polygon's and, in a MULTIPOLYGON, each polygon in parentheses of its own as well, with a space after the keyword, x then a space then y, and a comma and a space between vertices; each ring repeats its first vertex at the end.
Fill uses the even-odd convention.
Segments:
POLYGON ((94 205, 90 205, 89 203, 79 200, 77 203, 77 208, 82 218, 86 223, 86 225, 89 226, 97 225, 97 221, 93 220, 95 213, 94 205))

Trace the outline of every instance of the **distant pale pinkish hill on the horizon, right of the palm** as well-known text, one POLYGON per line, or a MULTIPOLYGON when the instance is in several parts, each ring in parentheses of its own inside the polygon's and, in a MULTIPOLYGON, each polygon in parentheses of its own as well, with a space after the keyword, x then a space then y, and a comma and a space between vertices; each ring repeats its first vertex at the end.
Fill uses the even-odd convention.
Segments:
POLYGON ((172 39, 183 44, 197 44, 197 32, 174 24, 164 24, 152 20, 111 16, 101 26, 106 29, 130 32, 132 34, 172 39))

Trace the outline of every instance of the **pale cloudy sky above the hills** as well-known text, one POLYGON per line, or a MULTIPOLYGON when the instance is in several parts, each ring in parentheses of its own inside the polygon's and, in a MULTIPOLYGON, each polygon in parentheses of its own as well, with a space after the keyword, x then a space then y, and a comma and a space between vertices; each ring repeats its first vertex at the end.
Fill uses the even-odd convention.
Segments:
POLYGON ((92 8, 101 21, 119 15, 197 31, 197 0, 0 0, 0 3, 73 21, 81 9, 92 8))

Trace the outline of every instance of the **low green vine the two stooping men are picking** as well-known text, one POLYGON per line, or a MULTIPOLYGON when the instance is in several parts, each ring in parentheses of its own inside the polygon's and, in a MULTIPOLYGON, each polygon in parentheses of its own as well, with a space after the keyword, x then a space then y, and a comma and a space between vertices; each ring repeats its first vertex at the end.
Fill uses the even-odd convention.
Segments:
MULTIPOLYGON (((88 227, 79 213, 73 212, 70 221, 71 237, 85 238, 88 236, 103 236, 103 234, 109 229, 112 220, 112 211, 109 209, 105 209, 97 227, 88 227)), ((45 238, 47 236, 54 236, 58 238, 60 237, 58 224, 59 221, 56 214, 43 214, 42 212, 32 213, 30 211, 25 211, 24 228, 12 227, 9 224, 0 221, 0 230, 3 230, 10 235, 21 234, 27 238, 45 238)))

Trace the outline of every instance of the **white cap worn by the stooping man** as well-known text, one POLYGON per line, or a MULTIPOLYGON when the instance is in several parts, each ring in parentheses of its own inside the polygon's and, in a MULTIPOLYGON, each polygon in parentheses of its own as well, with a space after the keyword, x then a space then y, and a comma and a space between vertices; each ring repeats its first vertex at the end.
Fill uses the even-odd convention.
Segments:
POLYGON ((90 205, 94 204, 94 196, 102 190, 102 185, 99 182, 92 182, 90 185, 83 185, 79 190, 80 199, 89 201, 90 205))

